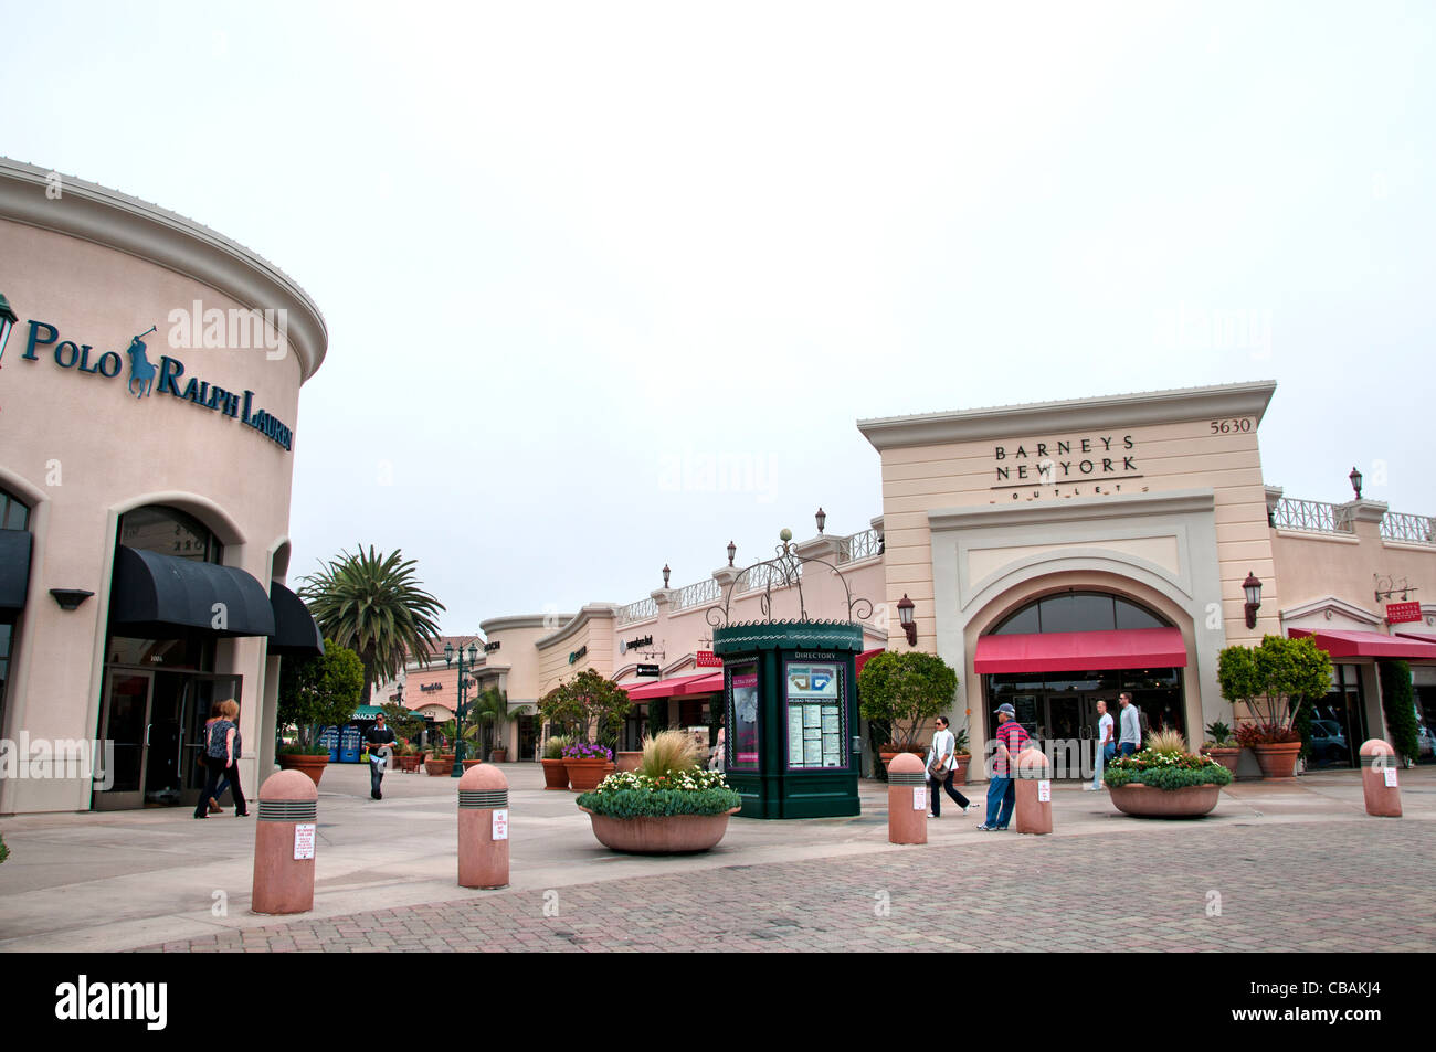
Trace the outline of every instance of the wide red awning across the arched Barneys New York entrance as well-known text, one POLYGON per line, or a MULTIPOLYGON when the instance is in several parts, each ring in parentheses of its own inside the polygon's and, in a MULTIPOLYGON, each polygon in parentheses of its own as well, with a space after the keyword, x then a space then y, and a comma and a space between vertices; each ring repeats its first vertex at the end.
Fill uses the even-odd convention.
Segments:
POLYGON ((984 636, 975 660, 978 673, 1170 667, 1186 667, 1180 629, 984 636))

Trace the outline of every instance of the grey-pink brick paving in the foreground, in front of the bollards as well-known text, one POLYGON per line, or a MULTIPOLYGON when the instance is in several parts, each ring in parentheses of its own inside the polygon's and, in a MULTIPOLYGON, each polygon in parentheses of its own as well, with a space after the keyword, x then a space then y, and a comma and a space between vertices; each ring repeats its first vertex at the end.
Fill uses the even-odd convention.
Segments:
POLYGON ((1429 880, 1430 832, 1427 822, 1347 822, 1320 835, 1305 824, 992 834, 965 847, 738 864, 547 897, 505 891, 146 949, 1429 950, 1436 908, 1413 888, 1429 880), (1208 916, 1213 891, 1219 916, 1208 916))

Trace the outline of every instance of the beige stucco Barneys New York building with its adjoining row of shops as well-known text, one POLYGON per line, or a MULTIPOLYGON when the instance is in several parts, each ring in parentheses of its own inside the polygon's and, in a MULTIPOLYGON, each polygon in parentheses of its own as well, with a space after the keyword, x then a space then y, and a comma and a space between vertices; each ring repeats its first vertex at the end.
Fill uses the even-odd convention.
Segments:
MULTIPOLYGON (((1377 501, 1298 501, 1268 487, 1258 433, 1275 390, 1232 383, 860 421, 882 458, 882 515, 796 548, 875 601, 864 624, 875 649, 909 649, 898 607, 913 603, 912 646, 958 670, 952 718, 976 748, 1002 702, 1043 741, 1081 742, 1096 702, 1122 690, 1149 725, 1200 741, 1206 725, 1246 716, 1221 696, 1221 650, 1310 630, 1335 663, 1318 702, 1337 729, 1321 762, 1348 764, 1361 741, 1384 735, 1383 657, 1409 660, 1419 706, 1436 709, 1436 606, 1393 624, 1373 586, 1430 596, 1436 535, 1429 517, 1377 501), (1251 624, 1249 578, 1261 584, 1251 624)), ((734 587, 744 564, 628 604, 485 621, 491 650, 477 679, 518 706, 596 669, 640 705, 629 743, 658 723, 705 723, 722 708, 722 677, 698 664, 705 611, 728 598, 732 620, 763 617, 763 578, 734 587), (658 675, 639 680, 639 664, 658 675)), ((806 584, 808 614, 847 619, 847 591, 831 581, 824 591, 821 576, 806 584)), ((797 616, 794 590, 771 601, 774 617, 797 616)), ((530 759, 540 735, 518 735, 511 748, 530 759)))

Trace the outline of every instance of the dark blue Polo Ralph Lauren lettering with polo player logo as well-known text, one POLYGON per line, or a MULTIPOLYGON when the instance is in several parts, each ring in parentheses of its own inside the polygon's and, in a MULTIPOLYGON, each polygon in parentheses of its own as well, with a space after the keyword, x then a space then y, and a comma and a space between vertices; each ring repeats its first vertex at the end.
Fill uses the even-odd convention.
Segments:
MULTIPOLYGON (((131 395, 135 398, 149 398, 151 392, 158 392, 184 402, 192 402, 201 409, 213 409, 223 416, 254 428, 254 431, 283 449, 293 449, 294 432, 284 426, 276 416, 263 409, 256 409, 253 390, 246 390, 241 395, 225 390, 218 385, 211 385, 192 375, 187 377, 184 362, 168 354, 161 354, 159 365, 154 365, 146 357, 146 344, 141 339, 152 332, 154 327, 132 337, 129 346, 125 349, 125 353, 129 354, 129 382, 125 385, 125 389, 131 395)), ((93 347, 90 344, 60 340, 60 333, 55 326, 47 321, 33 320, 30 321, 30 337, 26 340, 24 354, 20 357, 26 362, 39 362, 40 359, 36 352, 40 347, 50 347, 52 344, 55 347, 55 365, 60 369, 75 369, 112 380, 119 376, 119 370, 123 366, 119 352, 106 350, 92 362, 90 352, 93 347)))

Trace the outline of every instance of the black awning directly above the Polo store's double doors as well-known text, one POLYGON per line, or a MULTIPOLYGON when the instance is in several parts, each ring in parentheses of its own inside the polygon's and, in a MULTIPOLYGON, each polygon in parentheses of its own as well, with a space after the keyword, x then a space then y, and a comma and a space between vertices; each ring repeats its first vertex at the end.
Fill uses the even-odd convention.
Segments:
POLYGON ((243 570, 119 545, 109 630, 141 639, 273 636, 274 611, 264 586, 243 570))

